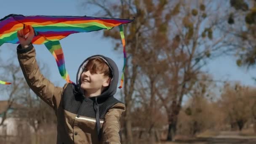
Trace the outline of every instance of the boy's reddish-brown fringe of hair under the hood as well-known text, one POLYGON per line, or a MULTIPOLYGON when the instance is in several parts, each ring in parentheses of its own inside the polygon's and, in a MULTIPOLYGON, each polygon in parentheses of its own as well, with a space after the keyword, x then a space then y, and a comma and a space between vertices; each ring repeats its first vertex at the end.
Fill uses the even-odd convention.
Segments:
POLYGON ((101 58, 91 58, 85 66, 92 74, 104 74, 104 76, 113 77, 111 69, 107 63, 101 58))

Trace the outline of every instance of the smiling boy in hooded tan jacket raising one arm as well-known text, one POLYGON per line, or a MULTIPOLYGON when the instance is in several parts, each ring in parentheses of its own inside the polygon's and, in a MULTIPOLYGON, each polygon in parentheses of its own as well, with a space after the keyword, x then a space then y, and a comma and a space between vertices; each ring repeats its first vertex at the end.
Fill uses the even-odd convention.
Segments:
POLYGON ((18 31, 19 64, 29 87, 57 116, 57 144, 120 144, 120 117, 125 105, 115 99, 118 68, 112 59, 96 55, 85 59, 76 85, 54 86, 40 73, 31 44, 34 30, 18 31))

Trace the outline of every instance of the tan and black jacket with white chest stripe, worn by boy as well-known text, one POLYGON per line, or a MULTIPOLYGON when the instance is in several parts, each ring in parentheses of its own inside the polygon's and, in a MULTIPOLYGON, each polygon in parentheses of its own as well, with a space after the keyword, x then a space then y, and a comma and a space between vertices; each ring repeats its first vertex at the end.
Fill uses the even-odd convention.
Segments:
POLYGON ((123 103, 113 97, 105 97, 101 100, 103 102, 99 104, 98 111, 101 128, 98 137, 95 109, 88 106, 94 104, 93 99, 84 99, 81 95, 77 95, 72 84, 67 83, 60 88, 47 80, 40 73, 35 59, 35 48, 32 45, 22 49, 19 45, 17 54, 29 87, 55 110, 57 144, 120 144, 120 117, 125 111, 123 103), (105 101, 109 103, 106 104, 105 101), (111 107, 109 107, 110 103, 111 107))

